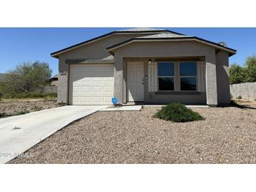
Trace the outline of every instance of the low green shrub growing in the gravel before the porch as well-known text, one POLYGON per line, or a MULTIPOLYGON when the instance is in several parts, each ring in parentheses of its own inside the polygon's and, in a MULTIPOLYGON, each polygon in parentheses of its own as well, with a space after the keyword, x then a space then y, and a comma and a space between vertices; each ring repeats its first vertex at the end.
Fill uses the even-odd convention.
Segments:
POLYGON ((157 111, 153 116, 154 118, 160 118, 166 121, 174 122, 188 122, 188 121, 199 121, 204 118, 197 112, 184 106, 184 104, 172 103, 166 107, 162 107, 161 110, 157 111))

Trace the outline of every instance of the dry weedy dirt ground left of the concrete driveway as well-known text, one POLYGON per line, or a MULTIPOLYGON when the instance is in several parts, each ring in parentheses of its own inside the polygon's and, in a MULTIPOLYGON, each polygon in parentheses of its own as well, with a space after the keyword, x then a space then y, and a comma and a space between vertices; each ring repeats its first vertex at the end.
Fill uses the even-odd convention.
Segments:
POLYGON ((0 101, 0 118, 57 107, 56 99, 19 99, 0 101))

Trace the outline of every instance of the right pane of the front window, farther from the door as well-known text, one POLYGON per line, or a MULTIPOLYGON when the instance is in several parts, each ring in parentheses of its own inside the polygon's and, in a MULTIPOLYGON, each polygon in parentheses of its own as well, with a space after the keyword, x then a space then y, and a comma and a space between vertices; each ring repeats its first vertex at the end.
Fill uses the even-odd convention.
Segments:
POLYGON ((196 90, 196 62, 180 62, 180 90, 196 90))

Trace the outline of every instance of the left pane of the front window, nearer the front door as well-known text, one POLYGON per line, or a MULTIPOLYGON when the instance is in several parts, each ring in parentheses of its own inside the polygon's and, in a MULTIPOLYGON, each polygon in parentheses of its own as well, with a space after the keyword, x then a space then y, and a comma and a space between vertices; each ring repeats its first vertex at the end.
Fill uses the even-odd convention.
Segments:
POLYGON ((174 90, 174 65, 174 62, 157 63, 159 90, 174 90))

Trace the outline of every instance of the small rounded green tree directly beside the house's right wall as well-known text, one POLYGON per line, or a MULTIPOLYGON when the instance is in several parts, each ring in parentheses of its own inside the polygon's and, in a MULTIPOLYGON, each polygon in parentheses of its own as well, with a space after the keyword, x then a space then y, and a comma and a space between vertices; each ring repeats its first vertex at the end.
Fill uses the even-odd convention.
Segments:
POLYGON ((245 83, 248 78, 246 71, 245 67, 241 67, 236 63, 231 64, 231 67, 229 68, 229 82, 231 84, 245 83))

